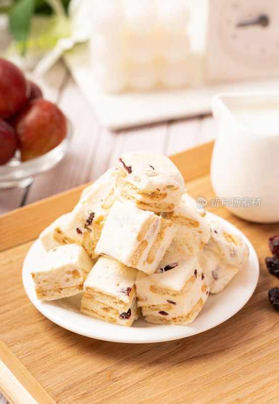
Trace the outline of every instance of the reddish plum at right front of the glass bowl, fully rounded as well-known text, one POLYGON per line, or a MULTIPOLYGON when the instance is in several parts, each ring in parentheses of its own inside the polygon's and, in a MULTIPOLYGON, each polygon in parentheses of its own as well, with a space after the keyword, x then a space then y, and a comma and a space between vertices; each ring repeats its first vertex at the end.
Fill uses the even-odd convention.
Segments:
POLYGON ((41 156, 66 137, 67 121, 62 111, 43 98, 30 100, 15 121, 21 160, 41 156))

